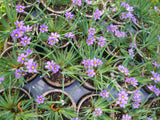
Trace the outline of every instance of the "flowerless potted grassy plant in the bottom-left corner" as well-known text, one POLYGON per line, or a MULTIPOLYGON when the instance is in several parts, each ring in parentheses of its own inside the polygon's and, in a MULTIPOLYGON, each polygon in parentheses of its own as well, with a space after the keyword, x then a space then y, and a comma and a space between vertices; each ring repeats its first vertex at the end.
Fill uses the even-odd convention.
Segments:
POLYGON ((4 120, 34 120, 33 98, 24 89, 11 87, 0 91, 0 119, 4 120))

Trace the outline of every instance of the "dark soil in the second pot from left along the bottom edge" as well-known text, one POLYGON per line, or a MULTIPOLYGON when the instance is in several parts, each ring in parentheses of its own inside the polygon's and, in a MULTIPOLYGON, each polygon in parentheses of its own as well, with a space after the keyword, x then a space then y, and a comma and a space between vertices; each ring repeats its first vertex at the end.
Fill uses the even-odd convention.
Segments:
MULTIPOLYGON (((71 107, 72 106, 72 102, 71 100, 64 94, 64 98, 62 98, 62 93, 61 92, 53 92, 53 93, 49 93, 48 95, 46 95, 46 98, 49 100, 49 101, 60 101, 60 100, 64 100, 66 101, 66 103, 62 106, 61 104, 55 104, 53 106, 54 109, 58 108, 58 107, 71 107)), ((51 106, 51 105, 49 105, 51 106)), ((45 111, 48 111, 48 110, 41 110, 42 114, 45 114, 45 111)), ((39 118, 39 120, 43 120, 42 118, 39 118)), ((69 120, 68 118, 64 117, 63 116, 63 120, 69 120)))

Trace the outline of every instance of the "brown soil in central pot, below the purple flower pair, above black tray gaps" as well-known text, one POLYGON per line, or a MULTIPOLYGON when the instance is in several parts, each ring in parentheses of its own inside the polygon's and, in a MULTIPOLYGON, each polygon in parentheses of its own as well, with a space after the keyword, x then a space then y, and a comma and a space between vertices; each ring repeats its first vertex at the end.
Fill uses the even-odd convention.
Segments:
MULTIPOLYGON (((53 83, 55 84, 62 84, 63 82, 63 74, 61 74, 61 72, 57 72, 57 73, 53 73, 52 71, 49 72, 49 75, 46 75, 46 77, 53 83)), ((70 83, 73 81, 73 78, 69 77, 69 76, 66 76, 64 75, 64 78, 65 78, 65 81, 64 81, 64 84, 66 83, 70 83)))

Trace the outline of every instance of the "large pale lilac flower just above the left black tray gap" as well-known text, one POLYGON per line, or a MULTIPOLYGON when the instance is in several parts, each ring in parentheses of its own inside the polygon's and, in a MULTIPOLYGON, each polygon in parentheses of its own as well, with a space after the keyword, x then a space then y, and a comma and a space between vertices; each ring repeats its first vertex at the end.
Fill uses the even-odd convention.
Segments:
POLYGON ((36 68, 38 65, 36 65, 36 62, 33 62, 33 59, 28 60, 28 62, 25 62, 24 64, 28 69, 28 73, 32 73, 32 72, 37 73, 36 68))

